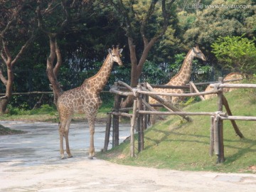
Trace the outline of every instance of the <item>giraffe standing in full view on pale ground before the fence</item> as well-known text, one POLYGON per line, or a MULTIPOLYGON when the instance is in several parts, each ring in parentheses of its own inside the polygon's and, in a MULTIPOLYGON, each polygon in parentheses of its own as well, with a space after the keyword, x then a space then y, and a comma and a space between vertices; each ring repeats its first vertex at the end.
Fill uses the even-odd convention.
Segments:
POLYGON ((68 142, 68 132, 74 113, 85 114, 88 119, 90 126, 89 159, 93 159, 93 156, 95 156, 95 119, 97 110, 102 104, 102 100, 100 100, 100 92, 110 78, 114 62, 118 63, 118 65, 122 65, 122 60, 120 59, 122 49, 119 49, 118 47, 114 48, 113 46, 113 49, 109 49, 108 52, 109 54, 107 55, 102 68, 100 68, 96 75, 86 79, 80 87, 63 92, 63 95, 60 95, 58 98, 57 106, 60 117, 59 134, 61 159, 65 159, 63 137, 65 138, 68 158, 72 157, 68 142))

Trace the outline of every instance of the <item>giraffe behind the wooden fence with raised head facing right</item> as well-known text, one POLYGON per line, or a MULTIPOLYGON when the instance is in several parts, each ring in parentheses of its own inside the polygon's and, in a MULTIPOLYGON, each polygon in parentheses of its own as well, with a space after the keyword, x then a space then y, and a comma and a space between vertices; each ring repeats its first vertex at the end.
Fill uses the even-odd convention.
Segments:
MULTIPOLYGON (((206 61, 206 56, 203 55, 202 51, 199 49, 198 46, 191 48, 188 51, 186 58, 183 60, 183 64, 181 66, 181 70, 174 75, 173 78, 165 85, 175 85, 175 86, 182 86, 186 85, 191 78, 192 73, 192 62, 193 58, 201 58, 201 60, 206 61)), ((168 92, 168 93, 183 93, 181 89, 162 89, 162 88, 155 88, 156 92, 168 92)), ((179 98, 178 97, 169 97, 169 96, 161 96, 164 100, 169 102, 177 103, 179 98)), ((156 104, 157 101, 153 98, 149 97, 149 104, 156 104)), ((156 107, 154 107, 156 109, 156 107)), ((156 115, 151 116, 151 124, 154 124, 156 115)))

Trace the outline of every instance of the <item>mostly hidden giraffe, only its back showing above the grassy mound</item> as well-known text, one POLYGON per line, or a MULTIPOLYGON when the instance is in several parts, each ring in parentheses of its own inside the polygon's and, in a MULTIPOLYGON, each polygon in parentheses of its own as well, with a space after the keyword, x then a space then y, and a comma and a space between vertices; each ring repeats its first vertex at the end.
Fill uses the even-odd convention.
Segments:
MULTIPOLYGON (((235 79, 240 79, 240 78, 241 79, 244 78, 244 75, 242 75, 242 73, 229 73, 228 75, 225 76, 225 78, 223 80, 224 81, 225 80, 235 80, 235 79)), ((240 80, 225 82, 225 83, 229 84, 229 83, 239 83, 239 82, 240 82, 240 80)), ((210 85, 208 85, 206 87, 205 91, 211 91, 211 90, 213 90, 213 88, 210 87, 210 85)), ((235 88, 223 88, 223 92, 230 92, 230 91, 233 91, 233 90, 235 90, 235 88)), ((212 97, 216 97, 216 96, 217 96, 217 94, 208 94, 208 95, 204 95, 204 98, 206 100, 208 100, 208 99, 210 99, 212 97)))

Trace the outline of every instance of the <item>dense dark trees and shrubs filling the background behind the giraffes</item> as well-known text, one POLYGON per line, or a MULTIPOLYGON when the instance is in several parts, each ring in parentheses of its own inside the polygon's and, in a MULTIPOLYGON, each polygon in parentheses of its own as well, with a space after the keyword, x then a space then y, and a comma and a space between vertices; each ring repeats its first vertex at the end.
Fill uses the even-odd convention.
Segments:
MULTIPOLYGON (((25 1, 17 1, 23 3, 25 1)), ((48 3, 50 1, 47 1, 48 3)), ((70 1, 71 2, 71 1, 70 1)), ((73 1, 75 2, 75 1, 73 1)), ((128 1, 133 2, 136 9, 145 9, 144 4, 149 0, 128 1)), ((11 4, 11 1, 0 1, 0 9, 11 4)), ((34 1, 29 3, 32 9, 36 8, 34 1)), ((160 1, 159 1, 160 4, 160 1)), ((124 48, 122 61, 124 66, 119 68, 114 65, 110 80, 105 87, 109 90, 110 86, 117 80, 122 80, 128 84, 131 82, 131 61, 129 58, 129 48, 127 44, 127 33, 124 31, 123 20, 118 16, 117 11, 107 1, 93 1, 92 4, 85 4, 84 9, 80 10, 79 18, 69 25, 58 35, 58 45, 63 58, 63 64, 58 73, 58 80, 63 86, 63 90, 78 87, 86 78, 90 78, 100 69, 103 60, 107 56, 107 49, 112 45, 119 44, 124 48)), ((199 44, 201 50, 208 58, 206 63, 195 60, 193 64, 192 80, 194 82, 207 82, 216 80, 218 76, 225 75, 232 71, 232 68, 224 68, 225 63, 217 60, 211 52, 213 43, 220 36, 242 36, 250 41, 254 41, 256 33, 255 1, 224 1, 224 0, 202 0, 202 1, 174 1, 171 9, 171 22, 164 36, 151 48, 146 62, 144 63, 143 73, 140 81, 153 84, 164 84, 169 81, 171 76, 178 72, 183 58, 188 50, 199 44), (191 5, 200 3, 203 9, 191 9, 191 5), (251 5, 247 9, 206 9, 207 5, 214 4, 241 4, 251 5)), ((0 10, 0 11, 1 11, 0 10)), ((32 13, 32 12, 31 12, 32 13)), ((2 12, 0 18, 0 29, 5 26, 4 19, 8 14, 2 12)), ((75 14, 75 12, 73 13, 75 14)), ((25 17, 25 15, 23 15, 25 17)), ((27 14, 25 18, 32 18, 34 15, 27 14)), ((58 23, 60 15, 58 10, 49 18, 49 23, 58 23)), ((35 18, 36 20, 36 18, 35 18)), ((159 14, 151 17, 154 22, 161 22, 159 14)), ((151 21, 154 23, 153 21, 151 21)), ((138 25, 139 23, 134 23, 138 25)), ((147 33, 154 33, 158 26, 151 25, 147 33)), ((23 46, 23 38, 28 33, 22 32, 22 26, 17 26, 21 33, 14 36, 9 33, 8 38, 11 52, 16 53, 18 48, 23 46)), ((51 91, 49 80, 46 75, 46 58, 49 55, 48 36, 42 31, 37 31, 36 38, 31 43, 22 57, 14 67, 14 86, 13 92, 32 92, 32 91, 51 91)), ((255 42, 255 41, 254 41, 255 42)), ((142 40, 136 39, 138 55, 143 50, 142 40)), ((2 49, 2 47, 0 47, 2 49)), ((6 76, 6 66, 0 61, 1 70, 6 76)), ((255 65, 255 63, 250 63, 255 65)), ((236 68, 239 71, 239 68, 236 68)), ((254 74, 254 70, 245 71, 254 74)), ((5 92, 4 84, 0 84, 0 92, 5 92)), ((24 110, 31 110, 42 95, 13 95, 9 102, 9 107, 18 107, 24 110)), ((109 100, 112 95, 102 94, 103 100, 109 100)), ((103 102, 104 103, 104 102, 103 102)), ((44 95, 43 103, 53 105, 53 95, 44 95)))

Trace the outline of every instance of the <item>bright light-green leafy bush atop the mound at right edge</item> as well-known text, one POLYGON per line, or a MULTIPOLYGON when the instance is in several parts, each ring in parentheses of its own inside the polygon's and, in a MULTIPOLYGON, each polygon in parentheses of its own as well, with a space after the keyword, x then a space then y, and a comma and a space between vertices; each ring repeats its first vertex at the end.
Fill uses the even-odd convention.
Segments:
POLYGON ((255 73, 256 47, 255 38, 249 40, 242 36, 220 37, 212 44, 212 52, 223 68, 242 73, 255 73))

